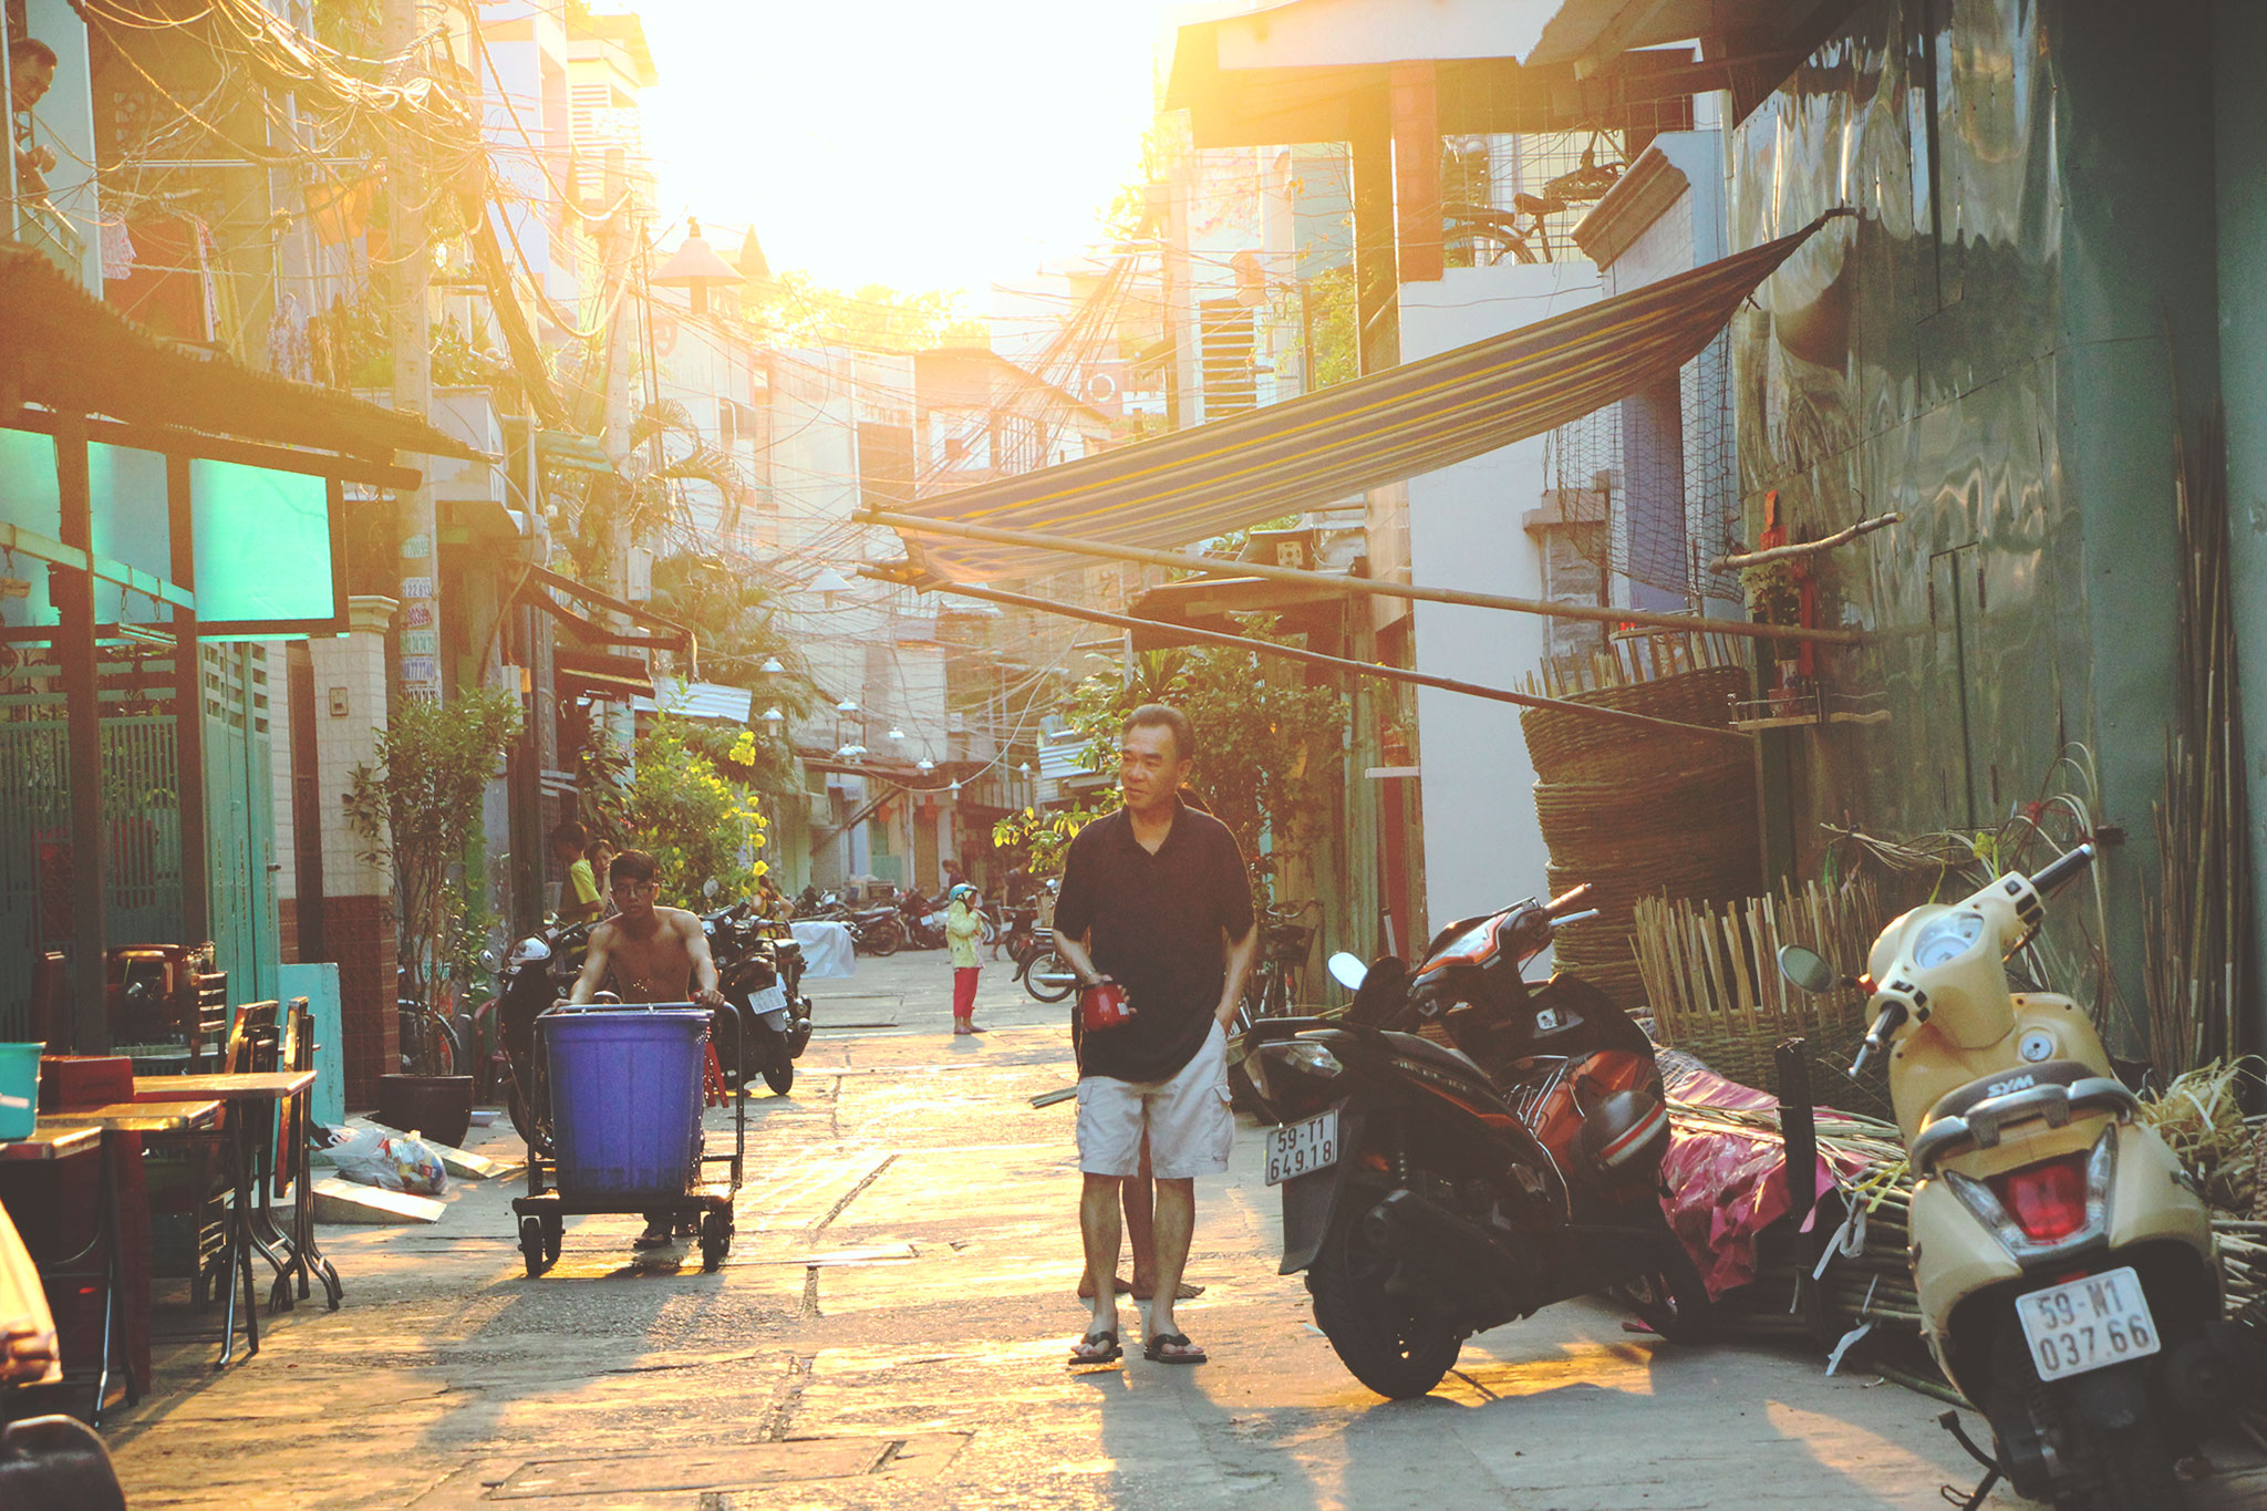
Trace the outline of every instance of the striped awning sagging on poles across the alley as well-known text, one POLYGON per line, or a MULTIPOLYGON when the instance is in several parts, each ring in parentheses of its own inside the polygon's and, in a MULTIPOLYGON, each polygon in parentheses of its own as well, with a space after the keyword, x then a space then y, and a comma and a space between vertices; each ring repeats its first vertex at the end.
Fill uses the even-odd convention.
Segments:
MULTIPOLYGON (((1508 335, 898 512, 1172 550, 1324 507, 1542 435, 1673 376, 1829 215, 1508 335)), ((1084 564, 1065 550, 911 532, 907 553, 932 580, 952 582, 1084 564)))

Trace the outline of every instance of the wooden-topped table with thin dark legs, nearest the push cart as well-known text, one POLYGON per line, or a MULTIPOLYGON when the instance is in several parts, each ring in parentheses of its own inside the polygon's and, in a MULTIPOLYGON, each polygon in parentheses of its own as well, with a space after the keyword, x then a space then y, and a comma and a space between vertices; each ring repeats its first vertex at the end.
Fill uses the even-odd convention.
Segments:
MULTIPOLYGON (((283 1312, 292 1305, 292 1280, 297 1278, 302 1294, 308 1289, 308 1280, 322 1280, 324 1294, 331 1309, 338 1309, 338 1298, 342 1287, 338 1284, 338 1271, 326 1257, 315 1248, 315 1183, 306 1169, 306 1139, 308 1139, 308 1090, 315 1085, 313 1069, 274 1069, 274 1072, 218 1072, 197 1076, 134 1076, 134 1101, 136 1103, 159 1103, 179 1096, 213 1096, 236 1105, 236 1115, 229 1117, 229 1158, 231 1169, 240 1178, 236 1185, 234 1214, 229 1219, 229 1264, 243 1269, 245 1282, 245 1330, 249 1339, 249 1359, 261 1348, 258 1323, 252 1318, 252 1255, 258 1253, 277 1271, 274 1287, 270 1289, 268 1305, 272 1312, 283 1312), (274 1217, 268 1207, 270 1183, 258 1178, 261 1171, 252 1169, 252 1117, 254 1105, 263 1103, 261 1117, 281 1115, 288 1108, 288 1117, 281 1117, 281 1128, 277 1128, 279 1139, 290 1139, 299 1164, 299 1178, 292 1183, 292 1221, 290 1232, 279 1232, 274 1228, 274 1217), (256 1203, 256 1210, 254 1210, 256 1203), (265 1235, 261 1232, 265 1228, 265 1235), (279 1253, 281 1248, 281 1253, 279 1253)), ((229 1312, 236 1309, 236 1278, 231 1273, 229 1282, 229 1312)), ((220 1364, 227 1366, 229 1350, 234 1343, 234 1328, 222 1334, 220 1364)))

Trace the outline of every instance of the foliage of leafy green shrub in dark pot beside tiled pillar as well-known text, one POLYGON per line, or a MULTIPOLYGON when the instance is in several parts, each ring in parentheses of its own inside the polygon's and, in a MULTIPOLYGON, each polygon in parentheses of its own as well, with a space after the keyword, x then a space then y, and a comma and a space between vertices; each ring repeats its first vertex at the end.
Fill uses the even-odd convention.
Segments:
POLYGON ((485 917, 462 874, 481 829, 481 804, 503 752, 519 739, 519 700, 472 689, 453 702, 408 700, 379 732, 374 766, 356 766, 347 822, 367 840, 363 859, 390 863, 401 917, 401 958, 419 1001, 462 974, 485 917))

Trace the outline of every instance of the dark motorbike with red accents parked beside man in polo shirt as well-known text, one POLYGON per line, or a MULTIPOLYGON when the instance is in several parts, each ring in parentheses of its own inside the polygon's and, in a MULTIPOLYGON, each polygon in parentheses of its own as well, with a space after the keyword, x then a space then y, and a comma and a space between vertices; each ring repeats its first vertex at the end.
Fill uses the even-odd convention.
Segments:
POLYGON ((1596 917, 1585 893, 1449 924, 1415 970, 1338 954, 1342 1019, 1251 1028, 1283 1273, 1306 1271, 1315 1325, 1381 1395, 1424 1395, 1467 1337, 1571 1296, 1612 1294, 1669 1339, 1705 1321, 1659 1203, 1653 1042, 1578 976, 1519 974, 1596 917))

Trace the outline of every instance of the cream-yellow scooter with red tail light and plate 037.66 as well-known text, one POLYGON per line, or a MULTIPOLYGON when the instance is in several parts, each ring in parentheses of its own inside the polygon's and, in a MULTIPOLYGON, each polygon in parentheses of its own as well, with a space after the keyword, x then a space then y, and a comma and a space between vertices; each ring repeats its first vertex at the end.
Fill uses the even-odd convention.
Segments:
MULTIPOLYGON (((2086 1013, 2006 983, 2045 897, 2092 859, 2079 845, 1904 913, 1857 983, 1875 1019, 1850 1074, 1888 1056, 1922 1334, 1997 1441, 1993 1457, 1970 1445, 1993 1470, 1970 1504, 2004 1475, 2063 1511, 2179 1506, 2174 1463, 2251 1361, 2219 1316, 2210 1214, 2086 1013)), ((1795 945, 1780 970, 1809 992, 1852 985, 1795 945)))

